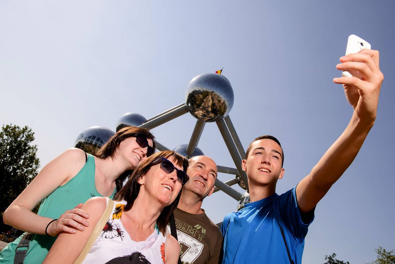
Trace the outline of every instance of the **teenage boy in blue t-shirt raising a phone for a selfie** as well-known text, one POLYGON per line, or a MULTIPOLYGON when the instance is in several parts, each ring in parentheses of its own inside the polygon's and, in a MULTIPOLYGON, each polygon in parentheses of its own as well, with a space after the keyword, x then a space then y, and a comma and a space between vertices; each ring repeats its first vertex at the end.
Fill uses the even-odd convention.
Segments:
POLYGON ((301 263, 314 208, 350 166, 372 128, 384 79, 378 51, 363 49, 341 57, 340 62, 338 70, 354 70, 363 76, 333 79, 343 84, 354 108, 350 123, 310 174, 281 195, 275 193, 277 180, 284 176, 280 142, 268 135, 252 141, 242 162, 251 202, 227 215, 222 223, 223 264, 301 263))

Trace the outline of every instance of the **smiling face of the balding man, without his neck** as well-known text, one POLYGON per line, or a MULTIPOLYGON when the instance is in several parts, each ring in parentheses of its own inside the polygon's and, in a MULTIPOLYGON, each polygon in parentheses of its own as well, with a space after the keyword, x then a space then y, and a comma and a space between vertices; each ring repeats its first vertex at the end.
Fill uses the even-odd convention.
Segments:
POLYGON ((189 160, 186 171, 189 181, 182 187, 184 190, 194 192, 201 198, 209 196, 214 191, 214 182, 217 177, 217 165, 207 156, 196 156, 189 160))

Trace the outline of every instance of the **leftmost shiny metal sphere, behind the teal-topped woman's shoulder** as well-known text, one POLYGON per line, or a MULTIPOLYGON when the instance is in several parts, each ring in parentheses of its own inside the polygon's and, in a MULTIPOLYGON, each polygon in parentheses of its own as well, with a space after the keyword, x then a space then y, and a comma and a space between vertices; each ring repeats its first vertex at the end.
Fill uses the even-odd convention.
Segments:
POLYGON ((91 126, 81 132, 75 140, 74 147, 94 154, 115 132, 103 126, 91 126))

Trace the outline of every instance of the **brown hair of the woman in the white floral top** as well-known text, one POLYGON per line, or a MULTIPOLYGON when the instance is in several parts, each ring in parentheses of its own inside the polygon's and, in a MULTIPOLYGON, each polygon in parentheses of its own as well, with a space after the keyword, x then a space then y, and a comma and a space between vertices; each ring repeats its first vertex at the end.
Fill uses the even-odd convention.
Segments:
MULTIPOLYGON (((126 200, 126 202, 128 202, 128 204, 124 208, 125 211, 129 211, 130 208, 132 208, 134 201, 136 200, 137 195, 139 194, 140 185, 137 181, 141 179, 141 177, 143 177, 150 170, 152 163, 161 157, 167 159, 173 157, 177 165, 182 166, 184 172, 186 172, 186 169, 188 168, 188 164, 189 164, 188 159, 178 154, 177 152, 167 150, 167 151, 160 151, 151 155, 149 158, 147 158, 146 160, 144 160, 139 164, 137 169, 135 169, 132 175, 130 176, 128 182, 124 185, 124 187, 122 187, 122 189, 115 196, 115 200, 126 200)), ((166 226, 167 223, 169 223, 169 217, 177 207, 178 202, 180 200, 180 196, 181 196, 181 190, 180 193, 175 198, 174 202, 164 207, 158 217, 158 220, 156 220, 156 224, 158 225, 159 231, 162 232, 163 235, 166 234, 166 226)))

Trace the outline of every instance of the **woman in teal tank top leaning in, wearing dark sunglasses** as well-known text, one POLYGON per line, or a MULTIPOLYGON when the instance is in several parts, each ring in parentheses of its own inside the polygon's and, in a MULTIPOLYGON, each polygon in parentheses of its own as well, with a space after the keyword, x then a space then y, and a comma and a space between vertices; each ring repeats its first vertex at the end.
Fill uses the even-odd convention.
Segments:
POLYGON ((145 128, 128 126, 96 157, 72 148, 45 165, 4 212, 4 223, 30 232, 30 237, 26 243, 22 236, 9 243, 0 252, 0 263, 13 263, 15 255, 15 260, 24 257, 24 264, 41 263, 60 232, 75 234, 91 225, 82 203, 94 196, 113 198, 124 179, 154 153, 153 139, 145 128), (36 215, 32 210, 40 202, 36 215))

